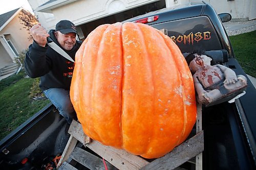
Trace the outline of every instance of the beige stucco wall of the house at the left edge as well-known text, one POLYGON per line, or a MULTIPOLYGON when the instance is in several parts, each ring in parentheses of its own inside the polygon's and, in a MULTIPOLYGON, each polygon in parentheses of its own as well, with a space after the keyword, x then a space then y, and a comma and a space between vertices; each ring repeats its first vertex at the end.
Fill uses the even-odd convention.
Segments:
POLYGON ((0 32, 0 34, 5 35, 6 40, 11 40, 18 53, 26 50, 32 43, 32 40, 28 39, 29 32, 23 27, 24 25, 19 23, 18 15, 16 15, 0 32))

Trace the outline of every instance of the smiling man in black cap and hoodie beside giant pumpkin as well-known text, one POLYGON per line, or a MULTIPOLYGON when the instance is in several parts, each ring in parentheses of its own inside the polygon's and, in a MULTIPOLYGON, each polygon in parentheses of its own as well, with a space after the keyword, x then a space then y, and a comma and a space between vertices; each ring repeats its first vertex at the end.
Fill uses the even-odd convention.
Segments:
POLYGON ((56 24, 55 30, 50 30, 49 33, 40 23, 34 25, 30 33, 34 41, 26 54, 25 70, 31 78, 40 77, 40 89, 59 110, 59 114, 71 124, 72 119, 76 118, 69 95, 74 63, 49 47, 47 37, 75 60, 75 54, 81 45, 81 41, 76 40, 76 27, 69 20, 61 20, 56 24))

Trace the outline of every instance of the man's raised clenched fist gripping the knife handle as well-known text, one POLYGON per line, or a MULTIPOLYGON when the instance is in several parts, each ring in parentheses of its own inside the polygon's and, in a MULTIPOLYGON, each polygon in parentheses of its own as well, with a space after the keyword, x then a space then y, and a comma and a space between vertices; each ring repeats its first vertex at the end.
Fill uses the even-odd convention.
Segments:
POLYGON ((41 26, 40 23, 34 25, 30 30, 30 33, 34 41, 40 46, 46 46, 47 37, 50 35, 47 33, 46 29, 41 26))

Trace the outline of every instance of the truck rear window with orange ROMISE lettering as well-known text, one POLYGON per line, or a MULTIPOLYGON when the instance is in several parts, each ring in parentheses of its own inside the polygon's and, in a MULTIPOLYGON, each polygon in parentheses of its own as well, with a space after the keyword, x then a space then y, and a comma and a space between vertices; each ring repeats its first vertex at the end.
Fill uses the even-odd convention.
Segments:
POLYGON ((151 26, 158 30, 166 29, 167 35, 179 46, 182 53, 222 49, 216 31, 206 16, 167 21, 151 26))

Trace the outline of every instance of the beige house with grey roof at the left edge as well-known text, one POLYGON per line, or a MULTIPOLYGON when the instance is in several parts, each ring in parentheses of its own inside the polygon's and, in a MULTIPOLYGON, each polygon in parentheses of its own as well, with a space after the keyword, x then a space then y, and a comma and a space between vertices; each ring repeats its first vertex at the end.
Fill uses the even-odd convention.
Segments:
MULTIPOLYGON (((25 51, 32 39, 30 33, 24 28, 19 16, 29 13, 18 8, 0 15, 0 77, 6 78, 14 74, 17 67, 16 57, 25 51)), ((0 80, 1 80, 0 79, 0 80)))

